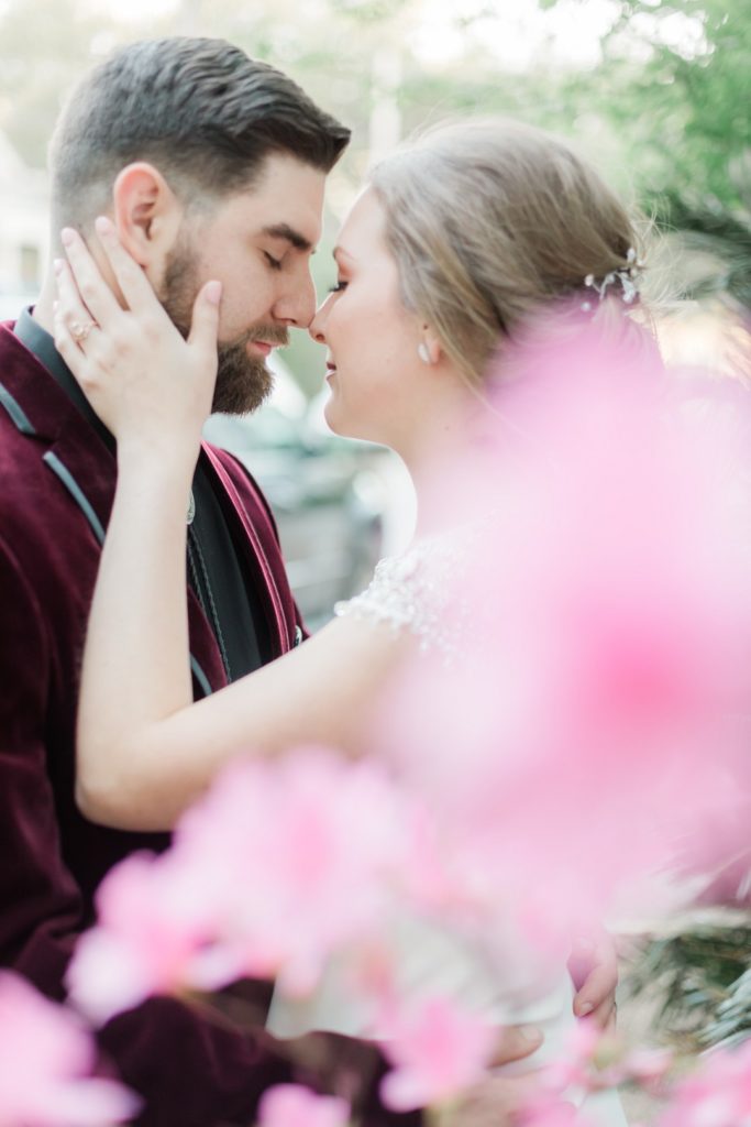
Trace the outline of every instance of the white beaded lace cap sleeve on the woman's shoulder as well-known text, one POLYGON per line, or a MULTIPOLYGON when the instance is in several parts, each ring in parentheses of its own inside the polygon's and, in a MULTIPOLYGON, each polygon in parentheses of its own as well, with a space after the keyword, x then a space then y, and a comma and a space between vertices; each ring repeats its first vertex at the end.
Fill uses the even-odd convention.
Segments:
POLYGON ((462 633, 463 607, 456 598, 456 575, 466 553, 466 540, 456 533, 418 541, 402 556, 379 560, 369 586, 339 602, 334 614, 385 622, 409 630, 420 649, 452 660, 462 633))

